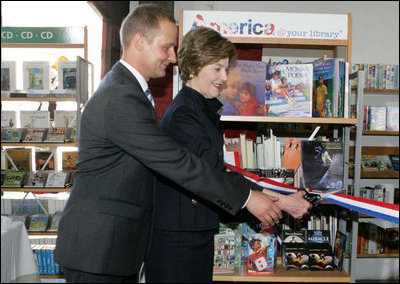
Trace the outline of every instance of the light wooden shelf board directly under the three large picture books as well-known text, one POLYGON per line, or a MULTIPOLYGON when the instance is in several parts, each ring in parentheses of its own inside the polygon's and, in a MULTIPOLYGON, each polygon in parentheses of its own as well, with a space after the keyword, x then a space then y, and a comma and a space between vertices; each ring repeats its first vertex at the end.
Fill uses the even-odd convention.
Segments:
POLYGON ((353 118, 318 118, 318 117, 266 117, 266 116, 221 116, 221 121, 233 122, 273 122, 273 123, 310 123, 310 124, 342 124, 356 125, 353 118))

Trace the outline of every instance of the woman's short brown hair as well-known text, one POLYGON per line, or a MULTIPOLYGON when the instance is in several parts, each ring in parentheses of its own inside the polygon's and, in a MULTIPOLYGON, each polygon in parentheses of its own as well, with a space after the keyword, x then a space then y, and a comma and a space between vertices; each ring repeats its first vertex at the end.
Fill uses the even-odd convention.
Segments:
POLYGON ((178 65, 183 81, 198 75, 206 66, 229 58, 229 66, 236 60, 235 46, 211 28, 197 28, 188 32, 178 49, 178 65))

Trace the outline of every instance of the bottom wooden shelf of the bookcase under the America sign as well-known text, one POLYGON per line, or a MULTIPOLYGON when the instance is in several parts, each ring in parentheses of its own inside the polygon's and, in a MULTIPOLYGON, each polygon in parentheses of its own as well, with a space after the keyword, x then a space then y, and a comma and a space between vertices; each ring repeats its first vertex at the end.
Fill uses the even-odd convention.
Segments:
POLYGON ((213 281, 224 282, 314 282, 314 283, 349 283, 350 276, 345 271, 287 271, 281 264, 270 275, 247 275, 246 265, 234 273, 214 274, 213 281))

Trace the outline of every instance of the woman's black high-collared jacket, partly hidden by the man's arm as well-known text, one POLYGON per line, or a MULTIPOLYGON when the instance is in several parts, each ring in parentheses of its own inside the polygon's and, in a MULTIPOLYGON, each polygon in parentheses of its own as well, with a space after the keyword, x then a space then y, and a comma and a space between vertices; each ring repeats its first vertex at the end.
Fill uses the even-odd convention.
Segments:
MULTIPOLYGON (((221 107, 222 104, 218 99, 206 99, 192 88, 183 86, 165 112, 160 126, 182 147, 206 160, 218 171, 226 172, 223 164, 224 141, 219 127, 221 107)), ((238 184, 262 190, 262 187, 251 183, 237 173, 229 173, 229 175, 238 184)), ((200 231, 218 228, 222 210, 168 179, 159 177, 158 180, 155 228, 167 231, 200 231)), ((245 213, 242 212, 242 214, 245 213)), ((230 218, 224 216, 224 219, 230 218)))

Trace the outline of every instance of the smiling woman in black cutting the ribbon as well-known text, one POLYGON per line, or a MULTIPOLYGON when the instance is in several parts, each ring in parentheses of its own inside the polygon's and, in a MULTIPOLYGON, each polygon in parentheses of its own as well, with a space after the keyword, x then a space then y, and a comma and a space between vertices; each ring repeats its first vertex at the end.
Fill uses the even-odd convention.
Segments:
MULTIPOLYGON (((178 50, 181 77, 186 84, 160 123, 180 145, 221 171, 226 169, 218 114, 222 104, 217 98, 235 57, 233 44, 218 32, 199 28, 187 33, 178 50)), ((231 174, 238 182, 248 184, 249 188, 263 190, 242 176, 231 174)), ((310 204, 302 198, 303 193, 293 196, 291 198, 296 199, 293 204, 285 203, 286 196, 276 198, 279 199, 276 204, 281 210, 285 209, 282 208, 285 204, 296 207, 294 210, 302 204, 302 216, 310 204)), ((218 211, 212 204, 160 178, 156 189, 152 248, 145 266, 146 281, 211 282, 218 211)))

